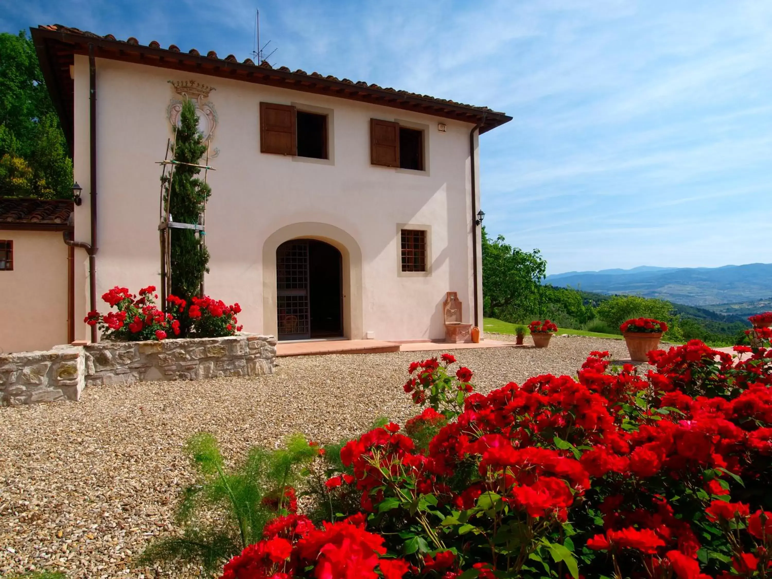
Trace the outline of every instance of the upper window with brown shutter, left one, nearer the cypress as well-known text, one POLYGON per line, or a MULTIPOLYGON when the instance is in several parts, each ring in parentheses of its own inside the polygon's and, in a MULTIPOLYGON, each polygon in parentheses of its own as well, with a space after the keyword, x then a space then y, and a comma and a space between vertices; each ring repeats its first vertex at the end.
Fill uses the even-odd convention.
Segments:
POLYGON ((260 152, 329 158, 327 115, 286 104, 260 103, 260 152))

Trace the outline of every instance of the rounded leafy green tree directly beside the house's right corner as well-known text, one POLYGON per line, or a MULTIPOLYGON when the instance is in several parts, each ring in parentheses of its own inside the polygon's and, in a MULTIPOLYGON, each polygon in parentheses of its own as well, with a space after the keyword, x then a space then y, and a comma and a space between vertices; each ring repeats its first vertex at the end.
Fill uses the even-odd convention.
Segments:
POLYGON ((504 242, 491 241, 482 228, 482 295, 486 315, 516 318, 539 310, 541 280, 547 262, 540 251, 526 252, 504 242))

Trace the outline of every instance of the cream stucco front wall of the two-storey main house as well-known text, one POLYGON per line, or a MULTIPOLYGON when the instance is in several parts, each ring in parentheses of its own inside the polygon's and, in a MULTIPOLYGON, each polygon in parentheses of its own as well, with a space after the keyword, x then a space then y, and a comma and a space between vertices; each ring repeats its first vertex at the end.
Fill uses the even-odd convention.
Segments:
MULTIPOLYGON (((88 242, 86 57, 76 56, 74 78, 75 178, 83 185, 85 199, 76 208, 76 239, 88 242)), ((372 332, 382 340, 441 338, 442 302, 449 290, 459 293, 464 317, 472 321, 471 124, 106 59, 97 59, 99 295, 115 285, 138 289, 159 283, 161 170, 156 161, 163 158, 171 136, 168 103, 177 97, 167 81, 191 79, 215 87, 208 100, 218 113, 213 146, 220 153, 210 161, 217 171, 208 175, 212 198, 206 241, 211 261, 206 293, 239 302, 245 330, 275 331, 276 306, 266 292, 266 283, 273 284, 276 276, 275 253, 273 260, 270 253, 279 243, 298 237, 331 240, 342 250, 344 277, 350 284, 344 299, 347 337, 360 339, 372 332), (332 161, 261 154, 260 101, 334 110, 332 161), (426 127, 429 171, 372 166, 371 117, 426 127), (439 121, 447 132, 437 130, 439 121), (400 223, 431 228, 430 276, 398 276, 395 232, 400 223), (359 256, 359 261, 347 256, 359 256)), ((88 303, 88 264, 85 252, 76 251, 77 320, 88 303)), ((479 303, 482 307, 482 300, 479 303)), ((481 312, 479 316, 482 322, 481 312)), ((79 324, 76 337, 86 335, 85 325, 79 324)))

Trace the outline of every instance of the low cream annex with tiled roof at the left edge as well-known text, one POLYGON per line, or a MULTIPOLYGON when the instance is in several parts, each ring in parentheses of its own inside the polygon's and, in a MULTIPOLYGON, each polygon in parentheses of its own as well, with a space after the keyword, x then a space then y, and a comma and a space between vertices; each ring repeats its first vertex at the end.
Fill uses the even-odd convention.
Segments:
POLYGON ((75 335, 73 201, 0 198, 0 354, 75 335))

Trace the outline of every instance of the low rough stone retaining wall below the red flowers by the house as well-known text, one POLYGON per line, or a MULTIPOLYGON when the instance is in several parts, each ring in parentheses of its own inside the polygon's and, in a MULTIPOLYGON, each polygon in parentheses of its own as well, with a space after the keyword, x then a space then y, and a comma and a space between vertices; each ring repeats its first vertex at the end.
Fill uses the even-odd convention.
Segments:
POLYGON ((78 400, 85 386, 273 374, 276 339, 239 334, 161 342, 100 342, 0 355, 4 405, 78 400))

